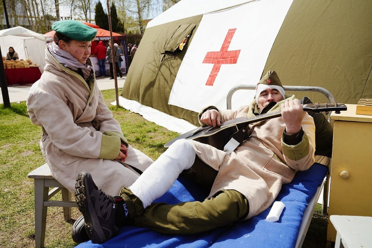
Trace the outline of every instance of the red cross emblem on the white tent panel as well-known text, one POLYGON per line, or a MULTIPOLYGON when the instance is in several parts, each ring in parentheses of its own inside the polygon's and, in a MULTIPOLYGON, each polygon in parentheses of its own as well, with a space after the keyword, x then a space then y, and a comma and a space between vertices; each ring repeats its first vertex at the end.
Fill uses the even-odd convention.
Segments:
POLYGON ((235 30, 236 28, 228 30, 224 43, 222 43, 221 49, 218 52, 207 52, 205 55, 203 63, 214 64, 205 85, 212 86, 214 84, 222 64, 236 64, 240 50, 228 51, 235 30))

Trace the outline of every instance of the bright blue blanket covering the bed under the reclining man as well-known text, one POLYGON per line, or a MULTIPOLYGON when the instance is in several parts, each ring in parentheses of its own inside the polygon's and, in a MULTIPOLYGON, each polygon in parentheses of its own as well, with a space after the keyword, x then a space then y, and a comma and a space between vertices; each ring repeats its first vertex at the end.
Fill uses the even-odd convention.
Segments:
MULTIPOLYGON (((314 163, 307 171, 297 172, 291 183, 283 185, 276 198, 285 204, 278 222, 265 220, 269 208, 247 221, 195 235, 167 235, 149 228, 122 226, 119 234, 104 244, 88 241, 77 247, 295 247, 304 211, 327 171, 326 166, 314 163)), ((203 200, 206 195, 208 192, 200 192, 196 186, 179 177, 157 202, 176 204, 203 200)))

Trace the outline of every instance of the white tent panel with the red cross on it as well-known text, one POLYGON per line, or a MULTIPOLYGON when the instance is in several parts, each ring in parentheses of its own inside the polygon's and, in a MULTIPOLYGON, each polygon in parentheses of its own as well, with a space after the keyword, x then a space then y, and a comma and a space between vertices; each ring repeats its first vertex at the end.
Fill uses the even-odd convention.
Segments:
MULTIPOLYGON (((256 84, 291 4, 292 0, 254 1, 204 14, 177 72, 168 103, 194 112, 208 105, 223 109, 232 87, 256 84), (276 14, 260 18, 264 12, 276 14), (215 78, 213 73, 217 74, 215 78), (198 101, 190 101, 190 95, 198 101)), ((249 105, 254 92, 237 92, 234 108, 249 105)))

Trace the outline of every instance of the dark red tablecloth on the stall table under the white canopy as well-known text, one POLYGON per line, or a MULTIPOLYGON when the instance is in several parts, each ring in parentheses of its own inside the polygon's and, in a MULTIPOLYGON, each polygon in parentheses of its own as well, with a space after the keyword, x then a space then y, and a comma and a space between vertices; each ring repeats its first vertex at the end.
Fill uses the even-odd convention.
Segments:
POLYGON ((5 69, 7 85, 33 84, 41 77, 39 67, 5 69))

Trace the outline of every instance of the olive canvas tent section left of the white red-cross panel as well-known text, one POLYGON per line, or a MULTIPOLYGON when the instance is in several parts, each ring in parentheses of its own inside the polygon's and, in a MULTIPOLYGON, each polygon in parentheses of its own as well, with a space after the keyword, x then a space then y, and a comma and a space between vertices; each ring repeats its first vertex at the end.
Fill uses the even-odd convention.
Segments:
MULTIPOLYGON (((198 124, 198 113, 169 105, 168 101, 177 71, 201 18, 202 16, 194 16, 146 29, 125 79, 129 83, 125 83, 122 90, 124 98, 182 118, 194 125, 198 124), (173 37, 175 31, 182 25, 192 27, 193 24, 190 23, 194 23, 195 27, 189 31, 193 32, 182 52, 177 52, 175 56, 161 54, 164 52, 164 44, 173 37)), ((183 36, 180 37, 183 39, 183 36)))

